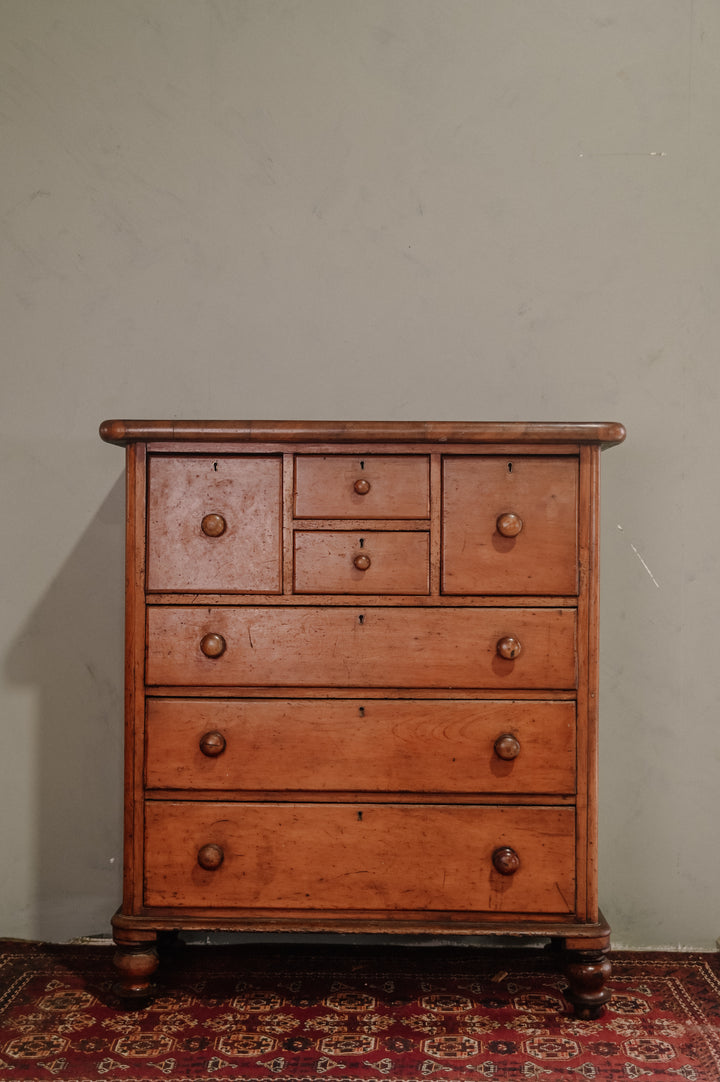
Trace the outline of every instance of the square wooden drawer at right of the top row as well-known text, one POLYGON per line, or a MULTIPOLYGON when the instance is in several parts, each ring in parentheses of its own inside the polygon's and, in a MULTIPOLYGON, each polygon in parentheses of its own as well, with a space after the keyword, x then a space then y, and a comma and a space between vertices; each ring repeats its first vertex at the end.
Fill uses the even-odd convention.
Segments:
POLYGON ((445 594, 574 595, 577 459, 446 457, 445 594))

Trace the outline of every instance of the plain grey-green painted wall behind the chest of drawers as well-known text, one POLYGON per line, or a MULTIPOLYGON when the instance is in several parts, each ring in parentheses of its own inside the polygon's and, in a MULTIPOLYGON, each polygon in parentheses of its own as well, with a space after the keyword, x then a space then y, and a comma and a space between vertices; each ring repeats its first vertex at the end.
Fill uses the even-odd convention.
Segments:
POLYGON ((602 900, 712 948, 715 0, 0 0, 0 935, 119 899, 105 417, 618 420, 602 900))

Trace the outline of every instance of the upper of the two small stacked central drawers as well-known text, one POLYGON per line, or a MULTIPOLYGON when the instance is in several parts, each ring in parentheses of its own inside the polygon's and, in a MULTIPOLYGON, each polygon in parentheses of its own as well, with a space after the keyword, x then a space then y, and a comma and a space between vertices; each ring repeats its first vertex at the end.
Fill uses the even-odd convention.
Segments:
POLYGON ((427 518, 427 454, 298 454, 296 518, 427 518))

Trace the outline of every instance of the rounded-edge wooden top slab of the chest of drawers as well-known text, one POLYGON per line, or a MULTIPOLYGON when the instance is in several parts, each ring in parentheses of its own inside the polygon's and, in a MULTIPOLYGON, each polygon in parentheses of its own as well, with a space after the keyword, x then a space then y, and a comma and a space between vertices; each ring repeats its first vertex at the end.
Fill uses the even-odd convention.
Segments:
POLYGON ((108 444, 341 443, 341 444, 600 444, 625 439, 615 421, 103 421, 108 444))

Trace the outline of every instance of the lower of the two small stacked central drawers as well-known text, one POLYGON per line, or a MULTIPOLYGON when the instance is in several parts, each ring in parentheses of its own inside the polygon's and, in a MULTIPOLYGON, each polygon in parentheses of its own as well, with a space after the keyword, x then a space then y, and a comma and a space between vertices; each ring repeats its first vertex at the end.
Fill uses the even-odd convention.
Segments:
POLYGON ((427 594, 430 535, 297 530, 297 594, 427 594))

